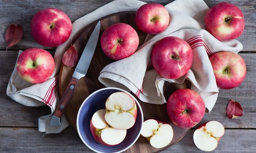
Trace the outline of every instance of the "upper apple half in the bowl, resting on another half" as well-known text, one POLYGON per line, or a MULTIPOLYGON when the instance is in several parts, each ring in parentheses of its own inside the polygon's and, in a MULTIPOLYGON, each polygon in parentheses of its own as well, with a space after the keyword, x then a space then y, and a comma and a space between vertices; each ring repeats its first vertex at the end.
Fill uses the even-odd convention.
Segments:
POLYGON ((115 92, 106 101, 106 122, 120 130, 131 128, 137 117, 137 106, 134 98, 125 92, 115 92))

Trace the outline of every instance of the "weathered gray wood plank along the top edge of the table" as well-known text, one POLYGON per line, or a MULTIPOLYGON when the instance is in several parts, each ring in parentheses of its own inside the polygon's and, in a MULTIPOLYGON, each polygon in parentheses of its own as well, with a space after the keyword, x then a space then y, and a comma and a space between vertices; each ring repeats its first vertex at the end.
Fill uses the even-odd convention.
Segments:
MULTIPOLYGON (((81 18, 82 16, 96 10, 100 6, 111 2, 112 0, 100 0, 100 1, 49 1, 45 3, 44 1, 34 1, 34 0, 27 0, 27 1, 0 1, 0 18, 1 18, 1 26, 0 26, 0 49, 6 49, 5 44, 5 32, 9 25, 17 24, 21 25, 24 31, 24 35, 22 40, 15 46, 11 47, 13 49, 26 49, 30 47, 41 47, 41 48, 52 48, 52 47, 43 47, 36 43, 33 39, 31 32, 30 32, 30 22, 33 15, 44 8, 47 7, 55 7, 59 8, 64 11, 74 22, 76 19, 81 18)), ((144 2, 156 2, 161 4, 168 4, 171 1, 147 1, 143 0, 144 2)), ((212 7, 214 4, 217 4, 218 0, 205 0, 205 3, 212 7)), ((251 51, 254 52, 256 50, 256 46, 254 42, 256 41, 256 31, 255 31, 255 23, 256 23, 256 2, 254 0, 246 0, 246 1, 234 1, 228 0, 233 4, 236 4, 243 12, 245 17, 245 30, 242 36, 240 36, 237 40, 241 41, 244 48, 243 51, 251 51)), ((54 48, 53 48, 54 49, 54 48)))

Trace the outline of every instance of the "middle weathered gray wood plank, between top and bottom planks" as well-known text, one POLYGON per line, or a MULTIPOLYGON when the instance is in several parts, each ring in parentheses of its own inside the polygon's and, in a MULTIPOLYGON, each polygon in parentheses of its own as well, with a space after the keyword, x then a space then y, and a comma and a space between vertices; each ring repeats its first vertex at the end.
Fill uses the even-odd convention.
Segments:
MULTIPOLYGON (((12 70, 15 66, 17 51, 1 51, 0 65, 6 65, 1 68, 0 82, 0 126, 13 127, 37 127, 37 118, 47 115, 50 112, 48 106, 27 107, 14 102, 6 95, 6 87, 11 77, 12 70), (8 114, 8 115, 6 115, 8 114), (11 119, 11 120, 10 120, 11 119)), ((52 54, 54 52, 51 52, 52 54)), ((256 54, 239 54, 246 62, 247 75, 244 82, 231 90, 220 90, 218 99, 212 111, 206 113, 200 123, 209 120, 220 121, 225 128, 256 128, 256 54), (244 115, 237 119, 228 119, 226 116, 226 105, 228 100, 233 99, 238 101, 244 108, 244 115)))

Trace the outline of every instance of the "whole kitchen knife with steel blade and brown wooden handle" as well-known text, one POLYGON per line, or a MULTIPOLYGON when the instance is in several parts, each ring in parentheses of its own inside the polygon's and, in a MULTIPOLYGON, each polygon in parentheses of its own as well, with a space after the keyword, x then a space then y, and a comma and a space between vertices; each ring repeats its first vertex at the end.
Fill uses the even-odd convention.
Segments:
POLYGON ((68 86, 66 87, 63 96, 61 97, 58 106, 56 107, 55 112, 53 113, 50 124, 52 126, 59 126, 60 118, 64 114, 67 109, 67 106, 73 97, 76 87, 78 85, 79 79, 84 77, 87 73, 89 65, 92 60, 92 56, 94 54, 98 38, 100 34, 100 21, 95 26, 86 46, 84 47, 84 51, 80 57, 80 60, 77 63, 75 72, 73 73, 70 81, 68 82, 68 86))

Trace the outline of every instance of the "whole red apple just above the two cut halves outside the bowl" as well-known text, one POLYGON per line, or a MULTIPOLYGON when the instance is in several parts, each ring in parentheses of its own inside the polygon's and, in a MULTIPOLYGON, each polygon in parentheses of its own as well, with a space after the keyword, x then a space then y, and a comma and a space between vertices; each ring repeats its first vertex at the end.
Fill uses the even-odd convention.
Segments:
POLYGON ((178 127, 192 128, 198 124, 205 113, 203 98, 191 89, 178 89, 168 98, 167 114, 178 127))

